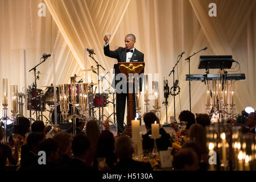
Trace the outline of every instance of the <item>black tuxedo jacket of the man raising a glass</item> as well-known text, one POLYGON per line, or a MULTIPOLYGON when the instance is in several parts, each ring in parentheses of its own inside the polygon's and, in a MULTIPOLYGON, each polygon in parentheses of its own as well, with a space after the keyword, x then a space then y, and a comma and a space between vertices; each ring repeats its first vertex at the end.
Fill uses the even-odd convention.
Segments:
MULTIPOLYGON (((112 57, 114 59, 117 59, 118 62, 126 62, 126 48, 119 47, 118 49, 115 49, 115 51, 110 51, 109 44, 108 46, 104 46, 104 54, 105 56, 112 57)), ((134 48, 133 56, 131 56, 130 62, 144 62, 144 54, 137 49, 134 48)), ((118 64, 114 64, 114 74, 115 76, 118 74, 118 64)), ((119 80, 114 80, 112 82, 112 87, 115 88, 115 85, 119 80)), ((142 91, 142 83, 143 78, 139 79, 139 90, 142 91)))

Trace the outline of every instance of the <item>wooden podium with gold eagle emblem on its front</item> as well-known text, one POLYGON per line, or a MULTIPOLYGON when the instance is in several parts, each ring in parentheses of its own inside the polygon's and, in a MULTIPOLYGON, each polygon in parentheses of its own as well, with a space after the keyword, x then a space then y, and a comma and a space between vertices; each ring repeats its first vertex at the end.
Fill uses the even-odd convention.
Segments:
POLYGON ((131 137, 131 120, 133 120, 133 87, 135 78, 131 74, 137 73, 140 75, 144 73, 144 62, 118 62, 117 73, 124 73, 127 77, 127 83, 130 85, 132 83, 132 87, 128 87, 128 114, 127 114, 127 127, 123 132, 123 135, 128 135, 131 137))

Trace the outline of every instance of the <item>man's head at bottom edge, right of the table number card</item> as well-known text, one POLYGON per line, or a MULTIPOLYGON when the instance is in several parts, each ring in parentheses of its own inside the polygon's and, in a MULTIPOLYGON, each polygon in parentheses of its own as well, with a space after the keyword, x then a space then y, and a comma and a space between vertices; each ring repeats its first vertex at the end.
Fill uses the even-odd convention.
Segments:
POLYGON ((199 167, 199 156, 190 148, 180 148, 174 155, 172 166, 177 171, 197 171, 199 167))

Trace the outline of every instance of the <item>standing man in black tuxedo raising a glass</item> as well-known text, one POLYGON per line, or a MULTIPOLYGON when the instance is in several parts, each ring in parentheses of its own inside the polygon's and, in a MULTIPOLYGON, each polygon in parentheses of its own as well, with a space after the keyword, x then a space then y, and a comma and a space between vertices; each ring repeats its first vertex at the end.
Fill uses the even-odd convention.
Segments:
MULTIPOLYGON (((125 48, 119 47, 115 49, 115 51, 110 51, 109 49, 109 38, 104 36, 105 46, 104 46, 104 54, 108 57, 112 57, 117 59, 118 62, 143 62, 144 54, 137 49, 135 49, 134 44, 136 43, 136 38, 133 34, 128 34, 125 36, 125 48)), ((117 75, 117 64, 114 65, 115 76, 117 75)), ((142 79, 139 79, 139 90, 142 91, 142 79)), ((114 78, 112 82, 112 87, 115 88, 119 81, 114 78)), ((122 88, 121 88, 122 89, 122 88)), ((128 97, 128 92, 118 93, 117 92, 117 130, 118 135, 123 132, 123 119, 125 117, 125 105, 126 105, 126 97, 128 97)), ((128 100, 128 98, 127 98, 128 100)), ((133 92, 133 115, 135 118, 136 110, 135 110, 135 94, 133 92)))

